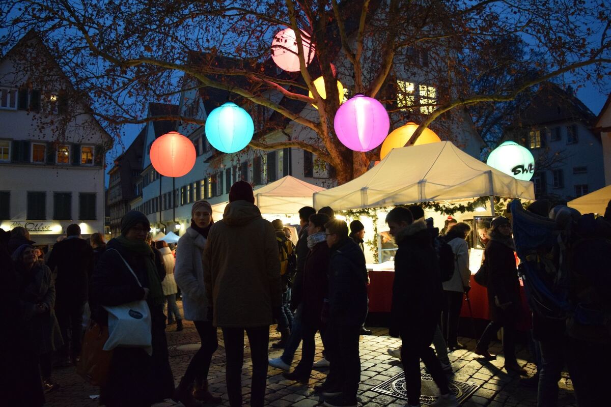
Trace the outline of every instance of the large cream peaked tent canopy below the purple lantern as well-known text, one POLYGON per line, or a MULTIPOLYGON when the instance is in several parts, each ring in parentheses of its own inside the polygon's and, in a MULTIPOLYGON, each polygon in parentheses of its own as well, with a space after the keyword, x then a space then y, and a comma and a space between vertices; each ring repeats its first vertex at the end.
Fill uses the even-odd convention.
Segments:
POLYGON ((343 211, 492 195, 535 200, 535 188, 439 142, 392 149, 359 178, 315 193, 314 207, 343 211))

